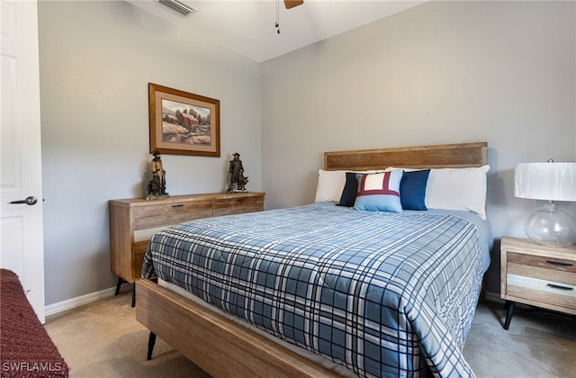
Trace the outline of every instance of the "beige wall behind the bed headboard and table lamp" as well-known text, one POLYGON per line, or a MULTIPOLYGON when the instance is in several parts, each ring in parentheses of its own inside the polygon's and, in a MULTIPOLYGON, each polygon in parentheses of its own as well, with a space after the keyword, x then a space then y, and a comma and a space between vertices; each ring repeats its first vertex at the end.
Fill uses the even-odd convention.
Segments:
POLYGON ((523 237, 538 204, 514 166, 576 160, 575 20, 574 2, 431 2, 266 61, 268 208, 313 202, 323 151, 487 141, 494 236, 523 237))

